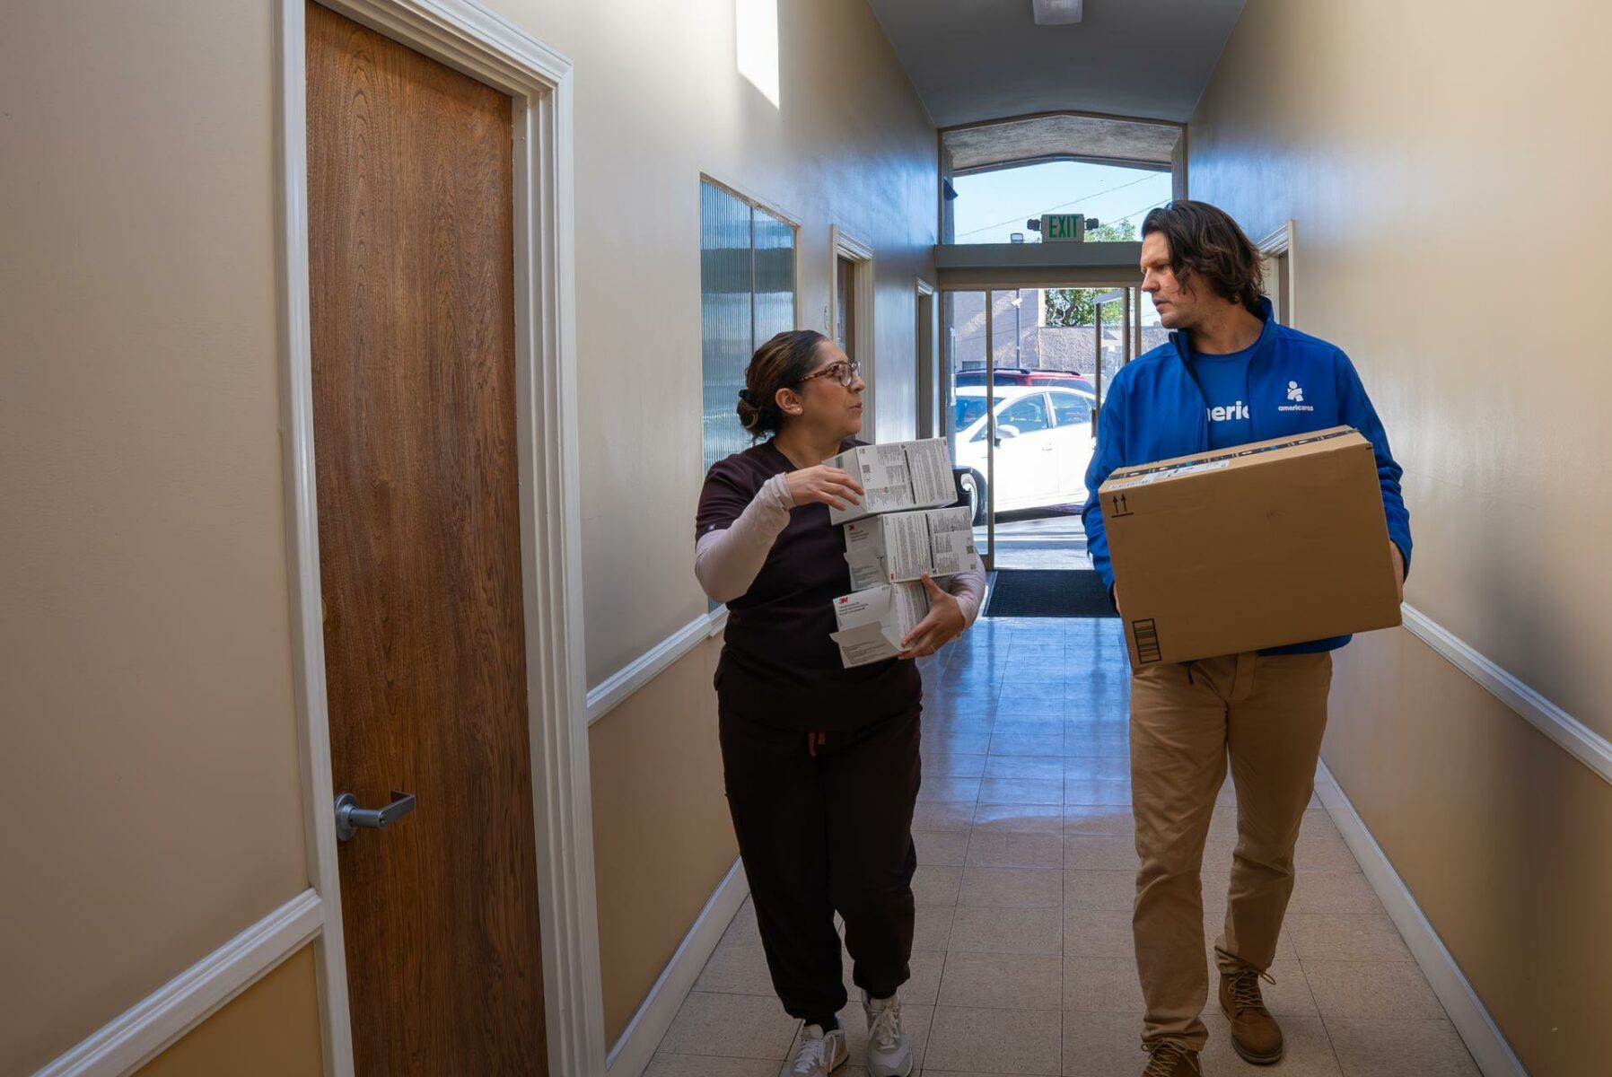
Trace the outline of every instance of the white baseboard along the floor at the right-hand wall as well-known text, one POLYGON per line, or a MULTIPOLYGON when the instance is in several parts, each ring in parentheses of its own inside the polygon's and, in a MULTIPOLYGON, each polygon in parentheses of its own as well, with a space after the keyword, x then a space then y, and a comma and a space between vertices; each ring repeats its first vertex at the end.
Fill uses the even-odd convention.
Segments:
POLYGON ((1399 929, 1417 964, 1422 966, 1433 993, 1444 1004, 1444 1011, 1467 1050, 1472 1051, 1483 1077, 1528 1077, 1528 1071, 1506 1043, 1506 1037, 1501 1035, 1499 1025, 1483 1006, 1483 1000, 1472 990, 1472 983, 1460 972, 1456 958, 1433 930, 1433 924, 1422 913, 1422 906, 1415 903, 1410 888, 1394 871, 1372 832, 1365 829, 1365 822, 1354 811, 1354 805, 1349 803, 1325 763, 1320 764, 1319 777, 1315 792, 1327 806, 1327 813, 1338 824, 1338 832, 1343 834, 1354 859, 1361 863, 1365 880, 1372 884, 1372 890, 1377 892, 1388 917, 1399 929))

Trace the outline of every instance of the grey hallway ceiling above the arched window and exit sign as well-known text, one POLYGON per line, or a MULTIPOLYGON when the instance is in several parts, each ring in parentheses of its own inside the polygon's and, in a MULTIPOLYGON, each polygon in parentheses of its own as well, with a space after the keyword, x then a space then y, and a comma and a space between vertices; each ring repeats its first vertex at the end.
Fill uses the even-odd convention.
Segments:
POLYGON ((1085 0, 1037 26, 1030 0, 867 0, 938 127, 1051 111, 1186 123, 1243 0, 1085 0))

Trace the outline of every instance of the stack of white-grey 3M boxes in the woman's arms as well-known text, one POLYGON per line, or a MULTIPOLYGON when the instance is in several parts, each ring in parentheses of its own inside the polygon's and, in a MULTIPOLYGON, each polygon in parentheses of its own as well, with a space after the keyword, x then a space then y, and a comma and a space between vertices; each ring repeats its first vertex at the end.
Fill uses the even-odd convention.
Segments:
POLYGON ((829 509, 845 527, 851 593, 837 598, 840 659, 846 669, 901 653, 929 614, 922 576, 966 572, 978 563, 974 521, 958 500, 945 439, 859 445, 825 461, 866 492, 861 505, 829 509))

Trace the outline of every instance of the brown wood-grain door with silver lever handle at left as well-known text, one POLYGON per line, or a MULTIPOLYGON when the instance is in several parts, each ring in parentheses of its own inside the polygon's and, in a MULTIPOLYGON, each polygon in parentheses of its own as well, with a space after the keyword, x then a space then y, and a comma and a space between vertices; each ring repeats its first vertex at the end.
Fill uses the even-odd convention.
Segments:
POLYGON ((308 5, 314 456, 359 1074, 542 1074, 511 102, 308 5))

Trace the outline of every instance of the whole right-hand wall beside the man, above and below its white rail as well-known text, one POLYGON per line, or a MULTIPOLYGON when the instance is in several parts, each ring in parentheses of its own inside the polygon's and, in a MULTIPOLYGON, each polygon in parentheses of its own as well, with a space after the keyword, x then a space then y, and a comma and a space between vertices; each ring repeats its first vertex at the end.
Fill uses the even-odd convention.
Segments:
MULTIPOLYGON (((1256 239, 1296 221, 1298 326, 1406 466, 1407 600, 1601 735, 1609 32, 1588 0, 1249 0, 1191 124, 1193 197, 1256 239)), ((1338 703, 1328 764, 1519 1054, 1591 1066, 1606 784, 1402 634, 1346 653, 1338 703)))

